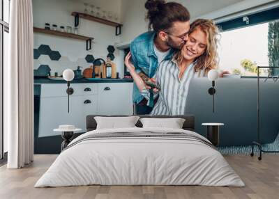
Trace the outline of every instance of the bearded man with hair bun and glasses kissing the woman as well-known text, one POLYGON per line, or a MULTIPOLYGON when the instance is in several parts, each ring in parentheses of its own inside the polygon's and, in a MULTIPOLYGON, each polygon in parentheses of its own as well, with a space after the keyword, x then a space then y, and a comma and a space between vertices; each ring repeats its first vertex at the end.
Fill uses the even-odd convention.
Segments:
MULTIPOLYGON (((131 42, 128 56, 131 54, 135 70, 142 79, 149 79, 158 65, 172 58, 174 50, 180 49, 188 40, 190 14, 180 3, 164 0, 147 0, 145 8, 149 31, 131 42)), ((135 83, 133 101, 136 114, 149 114, 153 109, 135 83)))

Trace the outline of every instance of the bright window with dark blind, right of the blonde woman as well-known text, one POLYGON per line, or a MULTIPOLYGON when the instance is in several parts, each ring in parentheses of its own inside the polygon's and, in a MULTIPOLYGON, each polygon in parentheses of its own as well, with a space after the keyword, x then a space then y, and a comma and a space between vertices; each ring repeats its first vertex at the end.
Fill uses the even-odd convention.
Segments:
MULTIPOLYGON (((257 65, 279 69, 279 8, 218 24, 221 29, 220 70, 244 77, 257 76, 257 65)), ((279 70, 260 70, 261 76, 279 70)))

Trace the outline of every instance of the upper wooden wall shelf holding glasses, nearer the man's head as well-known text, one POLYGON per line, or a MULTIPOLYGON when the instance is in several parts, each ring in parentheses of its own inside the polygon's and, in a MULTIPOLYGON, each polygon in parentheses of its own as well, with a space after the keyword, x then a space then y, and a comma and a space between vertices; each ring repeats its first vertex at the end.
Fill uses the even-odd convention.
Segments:
POLYGON ((79 18, 82 18, 82 19, 87 19, 87 20, 93 21, 93 22, 98 22, 100 24, 106 24, 108 26, 114 26, 116 28, 115 34, 116 35, 121 34, 121 26, 123 26, 123 24, 119 24, 119 23, 112 22, 112 21, 107 20, 107 19, 102 19, 102 18, 99 18, 99 17, 95 17, 93 15, 88 15, 86 13, 73 12, 72 15, 75 16, 75 26, 79 25, 79 18))

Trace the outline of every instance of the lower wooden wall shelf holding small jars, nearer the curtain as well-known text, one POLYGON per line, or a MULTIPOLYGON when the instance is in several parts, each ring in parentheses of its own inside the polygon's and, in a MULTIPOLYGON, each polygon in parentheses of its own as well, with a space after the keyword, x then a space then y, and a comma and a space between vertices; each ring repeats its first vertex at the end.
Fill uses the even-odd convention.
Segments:
POLYGON ((89 37, 84 36, 84 35, 77 35, 77 34, 73 34, 73 33, 63 33, 63 32, 60 32, 60 31, 52 31, 52 30, 40 29, 40 28, 36 28, 36 27, 33 27, 33 31, 36 32, 36 33, 56 35, 56 36, 60 36, 60 37, 64 37, 64 38, 85 40, 86 41, 86 50, 91 49, 91 40, 94 39, 94 38, 89 38, 89 37))

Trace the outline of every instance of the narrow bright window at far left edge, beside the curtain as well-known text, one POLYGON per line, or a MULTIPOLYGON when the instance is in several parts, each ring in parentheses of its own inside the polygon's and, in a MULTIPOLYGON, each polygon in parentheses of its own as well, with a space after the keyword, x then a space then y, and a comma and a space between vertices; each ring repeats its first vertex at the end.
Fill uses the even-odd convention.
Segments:
POLYGON ((3 134, 3 70, 8 64, 9 15, 10 0, 0 0, 0 159, 3 159, 3 154, 7 150, 7 136, 3 134))

